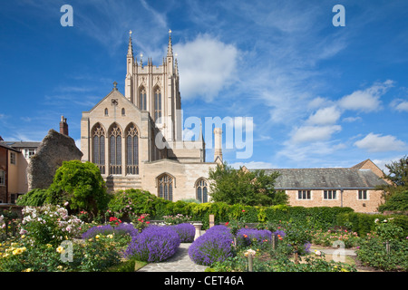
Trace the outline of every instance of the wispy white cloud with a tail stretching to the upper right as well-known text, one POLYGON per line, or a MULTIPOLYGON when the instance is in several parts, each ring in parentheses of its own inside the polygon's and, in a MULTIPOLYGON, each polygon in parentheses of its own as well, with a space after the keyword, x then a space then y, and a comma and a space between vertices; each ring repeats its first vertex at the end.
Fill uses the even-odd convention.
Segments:
POLYGON ((383 83, 374 83, 365 90, 358 90, 344 96, 339 106, 352 111, 378 111, 381 109, 380 97, 393 86, 393 81, 387 80, 383 83))

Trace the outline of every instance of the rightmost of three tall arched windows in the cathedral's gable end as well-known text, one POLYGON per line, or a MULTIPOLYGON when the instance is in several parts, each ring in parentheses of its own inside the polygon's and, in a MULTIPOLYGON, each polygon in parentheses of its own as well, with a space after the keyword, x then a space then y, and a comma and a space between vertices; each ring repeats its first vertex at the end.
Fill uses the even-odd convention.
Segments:
POLYGON ((126 174, 139 174, 139 132, 134 125, 126 131, 126 174))

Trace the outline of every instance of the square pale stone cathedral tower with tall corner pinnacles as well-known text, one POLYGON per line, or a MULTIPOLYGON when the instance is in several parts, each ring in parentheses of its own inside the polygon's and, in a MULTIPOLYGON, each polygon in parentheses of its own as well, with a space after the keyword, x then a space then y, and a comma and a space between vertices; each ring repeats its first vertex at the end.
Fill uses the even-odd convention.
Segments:
POLYGON ((138 63, 133 55, 130 32, 126 63, 125 97, 141 111, 150 112, 166 140, 182 140, 179 70, 173 55, 171 31, 167 55, 160 66, 153 66, 150 58, 144 66, 142 55, 138 63))

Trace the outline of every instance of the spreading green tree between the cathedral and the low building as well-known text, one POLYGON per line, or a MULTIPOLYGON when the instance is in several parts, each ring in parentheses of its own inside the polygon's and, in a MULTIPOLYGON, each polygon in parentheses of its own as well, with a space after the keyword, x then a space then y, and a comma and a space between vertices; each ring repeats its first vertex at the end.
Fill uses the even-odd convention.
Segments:
POLYGON ((209 183, 213 201, 229 205, 270 206, 287 203, 287 195, 274 189, 278 173, 265 170, 234 169, 227 162, 209 170, 209 183))

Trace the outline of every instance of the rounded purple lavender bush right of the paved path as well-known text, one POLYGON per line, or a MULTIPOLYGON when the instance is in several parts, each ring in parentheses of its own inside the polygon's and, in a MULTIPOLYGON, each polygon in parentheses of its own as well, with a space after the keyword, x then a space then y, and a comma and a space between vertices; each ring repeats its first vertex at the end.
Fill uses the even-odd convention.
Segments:
POLYGON ((214 226, 198 237, 189 247, 189 257, 199 265, 211 265, 233 256, 231 244, 233 236, 228 227, 214 226))

